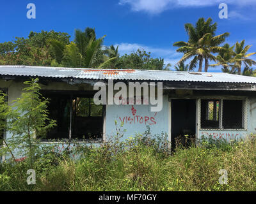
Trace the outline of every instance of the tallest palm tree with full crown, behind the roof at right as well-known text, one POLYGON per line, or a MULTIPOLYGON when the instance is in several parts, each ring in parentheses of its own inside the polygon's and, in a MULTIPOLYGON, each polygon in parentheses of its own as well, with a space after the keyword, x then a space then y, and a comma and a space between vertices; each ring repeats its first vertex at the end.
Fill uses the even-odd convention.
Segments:
POLYGON ((209 60, 215 61, 213 53, 220 52, 221 47, 218 47, 229 36, 229 33, 223 33, 215 36, 217 24, 212 24, 212 19, 199 18, 196 26, 192 24, 185 24, 186 32, 188 33, 188 42, 178 41, 173 44, 179 47, 177 52, 184 53, 178 64, 193 57, 189 64, 189 69, 195 68, 199 63, 198 71, 202 71, 202 64, 205 61, 205 71, 209 68, 209 60))

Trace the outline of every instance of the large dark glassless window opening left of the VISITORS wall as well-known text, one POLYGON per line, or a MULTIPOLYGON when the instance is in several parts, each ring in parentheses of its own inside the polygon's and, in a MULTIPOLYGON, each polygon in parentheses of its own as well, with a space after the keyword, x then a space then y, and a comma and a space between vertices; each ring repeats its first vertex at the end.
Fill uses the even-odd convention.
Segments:
POLYGON ((57 126, 47 134, 49 139, 102 140, 103 105, 93 103, 93 94, 65 91, 42 91, 49 98, 49 118, 57 126))

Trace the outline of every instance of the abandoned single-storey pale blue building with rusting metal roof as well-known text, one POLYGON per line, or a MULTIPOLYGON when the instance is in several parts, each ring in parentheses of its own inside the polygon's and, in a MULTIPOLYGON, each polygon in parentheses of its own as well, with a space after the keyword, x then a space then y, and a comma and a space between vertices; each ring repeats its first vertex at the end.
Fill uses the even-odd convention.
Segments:
MULTIPOLYGON (((124 138, 143 133, 166 133, 172 143, 180 135, 227 140, 256 133, 256 78, 228 73, 196 73, 137 69, 77 69, 0 66, 0 88, 8 103, 19 98, 24 81, 39 78, 41 92, 50 98, 49 117, 58 126, 52 138, 103 142, 123 122, 124 138), (151 105, 95 105, 95 82, 163 82, 163 108, 151 105)), ((143 97, 143 96, 142 96, 143 97)), ((8 133, 4 136, 8 138, 8 133)))

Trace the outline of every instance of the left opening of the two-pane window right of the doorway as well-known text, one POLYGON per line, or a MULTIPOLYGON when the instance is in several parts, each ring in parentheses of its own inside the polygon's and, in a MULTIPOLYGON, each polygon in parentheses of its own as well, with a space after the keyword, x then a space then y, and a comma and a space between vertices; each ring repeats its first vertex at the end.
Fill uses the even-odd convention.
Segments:
POLYGON ((219 128, 220 100, 201 100, 201 128, 219 128))

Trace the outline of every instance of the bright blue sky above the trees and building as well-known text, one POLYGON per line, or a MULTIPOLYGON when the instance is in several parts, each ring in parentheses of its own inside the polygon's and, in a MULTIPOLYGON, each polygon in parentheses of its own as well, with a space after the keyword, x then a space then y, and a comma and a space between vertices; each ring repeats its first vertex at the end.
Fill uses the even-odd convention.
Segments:
POLYGON ((52 29, 70 34, 73 40, 74 29, 94 27, 97 37, 106 34, 105 45, 119 45, 120 54, 144 48, 174 65, 182 55, 172 44, 187 41, 184 24, 195 24, 200 17, 218 23, 216 34, 229 32, 228 43, 244 39, 252 45, 249 51, 256 52, 256 0, 3 0, 0 42, 52 29), (28 3, 36 5, 36 19, 26 17, 28 3), (218 17, 220 3, 228 5, 227 19, 218 17))

